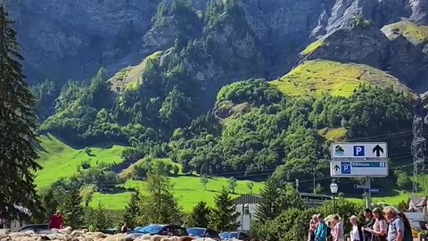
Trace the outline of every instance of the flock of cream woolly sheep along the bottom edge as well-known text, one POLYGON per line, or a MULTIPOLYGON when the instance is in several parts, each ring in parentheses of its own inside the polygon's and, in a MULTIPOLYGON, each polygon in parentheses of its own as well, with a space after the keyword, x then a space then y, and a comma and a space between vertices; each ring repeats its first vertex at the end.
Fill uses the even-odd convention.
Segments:
POLYGON ((144 236, 129 237, 126 234, 108 235, 101 232, 85 230, 52 229, 40 233, 7 233, 0 234, 0 241, 215 241, 211 238, 175 237, 175 236, 144 236))

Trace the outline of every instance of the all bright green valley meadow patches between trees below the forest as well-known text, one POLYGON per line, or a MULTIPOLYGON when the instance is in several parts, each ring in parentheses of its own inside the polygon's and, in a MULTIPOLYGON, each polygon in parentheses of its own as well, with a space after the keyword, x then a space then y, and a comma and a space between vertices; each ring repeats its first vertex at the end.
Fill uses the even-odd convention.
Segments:
MULTIPOLYGON (((85 149, 75 149, 70 145, 64 144, 61 140, 52 135, 40 137, 42 147, 45 152, 40 153, 39 163, 44 167, 43 170, 37 171, 36 184, 37 188, 48 187, 54 181, 60 178, 67 178, 78 171, 82 162, 89 161, 94 167, 102 162, 120 163, 120 154, 126 146, 112 145, 110 148, 90 147, 90 155, 86 154, 85 149)), ((171 162, 169 159, 161 159, 164 162, 171 162)), ((173 193, 178 199, 185 212, 190 212, 193 206, 199 201, 205 201, 209 205, 214 205, 214 196, 217 195, 222 187, 227 187, 227 179, 221 177, 212 177, 209 179, 207 189, 202 187, 201 179, 198 176, 171 177, 174 184, 173 193)), ((237 181, 236 195, 250 193, 247 183, 249 180, 237 181)), ((253 182, 253 193, 259 194, 262 182, 253 182)), ((144 182, 128 180, 123 187, 136 188, 142 194, 145 193, 144 182)), ((130 192, 118 194, 100 194, 95 193, 91 206, 97 207, 99 203, 103 204, 109 210, 123 210, 128 204, 130 192)))

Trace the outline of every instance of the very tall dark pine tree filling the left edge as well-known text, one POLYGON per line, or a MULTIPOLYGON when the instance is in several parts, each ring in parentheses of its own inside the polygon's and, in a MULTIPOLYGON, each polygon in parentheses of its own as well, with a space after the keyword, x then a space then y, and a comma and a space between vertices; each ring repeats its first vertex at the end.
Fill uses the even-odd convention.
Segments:
POLYGON ((34 185, 38 144, 35 134, 36 100, 22 74, 21 45, 12 21, 0 4, 0 213, 6 219, 21 215, 14 204, 37 210, 34 185))

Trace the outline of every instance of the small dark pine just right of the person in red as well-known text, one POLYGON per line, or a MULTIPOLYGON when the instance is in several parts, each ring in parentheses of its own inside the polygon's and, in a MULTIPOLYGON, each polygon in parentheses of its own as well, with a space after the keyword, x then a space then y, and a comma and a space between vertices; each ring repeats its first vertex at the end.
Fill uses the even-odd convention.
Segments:
POLYGON ((65 223, 72 229, 78 229, 81 228, 84 223, 84 210, 81 205, 82 197, 80 196, 80 190, 77 187, 73 187, 68 194, 62 205, 62 212, 65 213, 65 223))

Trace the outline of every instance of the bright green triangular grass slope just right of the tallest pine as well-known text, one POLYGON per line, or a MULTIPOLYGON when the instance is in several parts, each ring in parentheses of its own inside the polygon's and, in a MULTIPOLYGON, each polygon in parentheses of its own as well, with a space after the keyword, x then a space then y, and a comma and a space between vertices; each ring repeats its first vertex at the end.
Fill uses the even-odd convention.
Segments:
POLYGON ((120 145, 109 148, 91 147, 88 155, 84 149, 74 149, 52 135, 42 136, 39 140, 45 150, 39 154, 38 162, 43 166, 43 170, 37 171, 38 188, 47 187, 57 179, 71 177, 82 162, 88 161, 93 167, 100 163, 122 162, 120 154, 126 149, 120 145))

